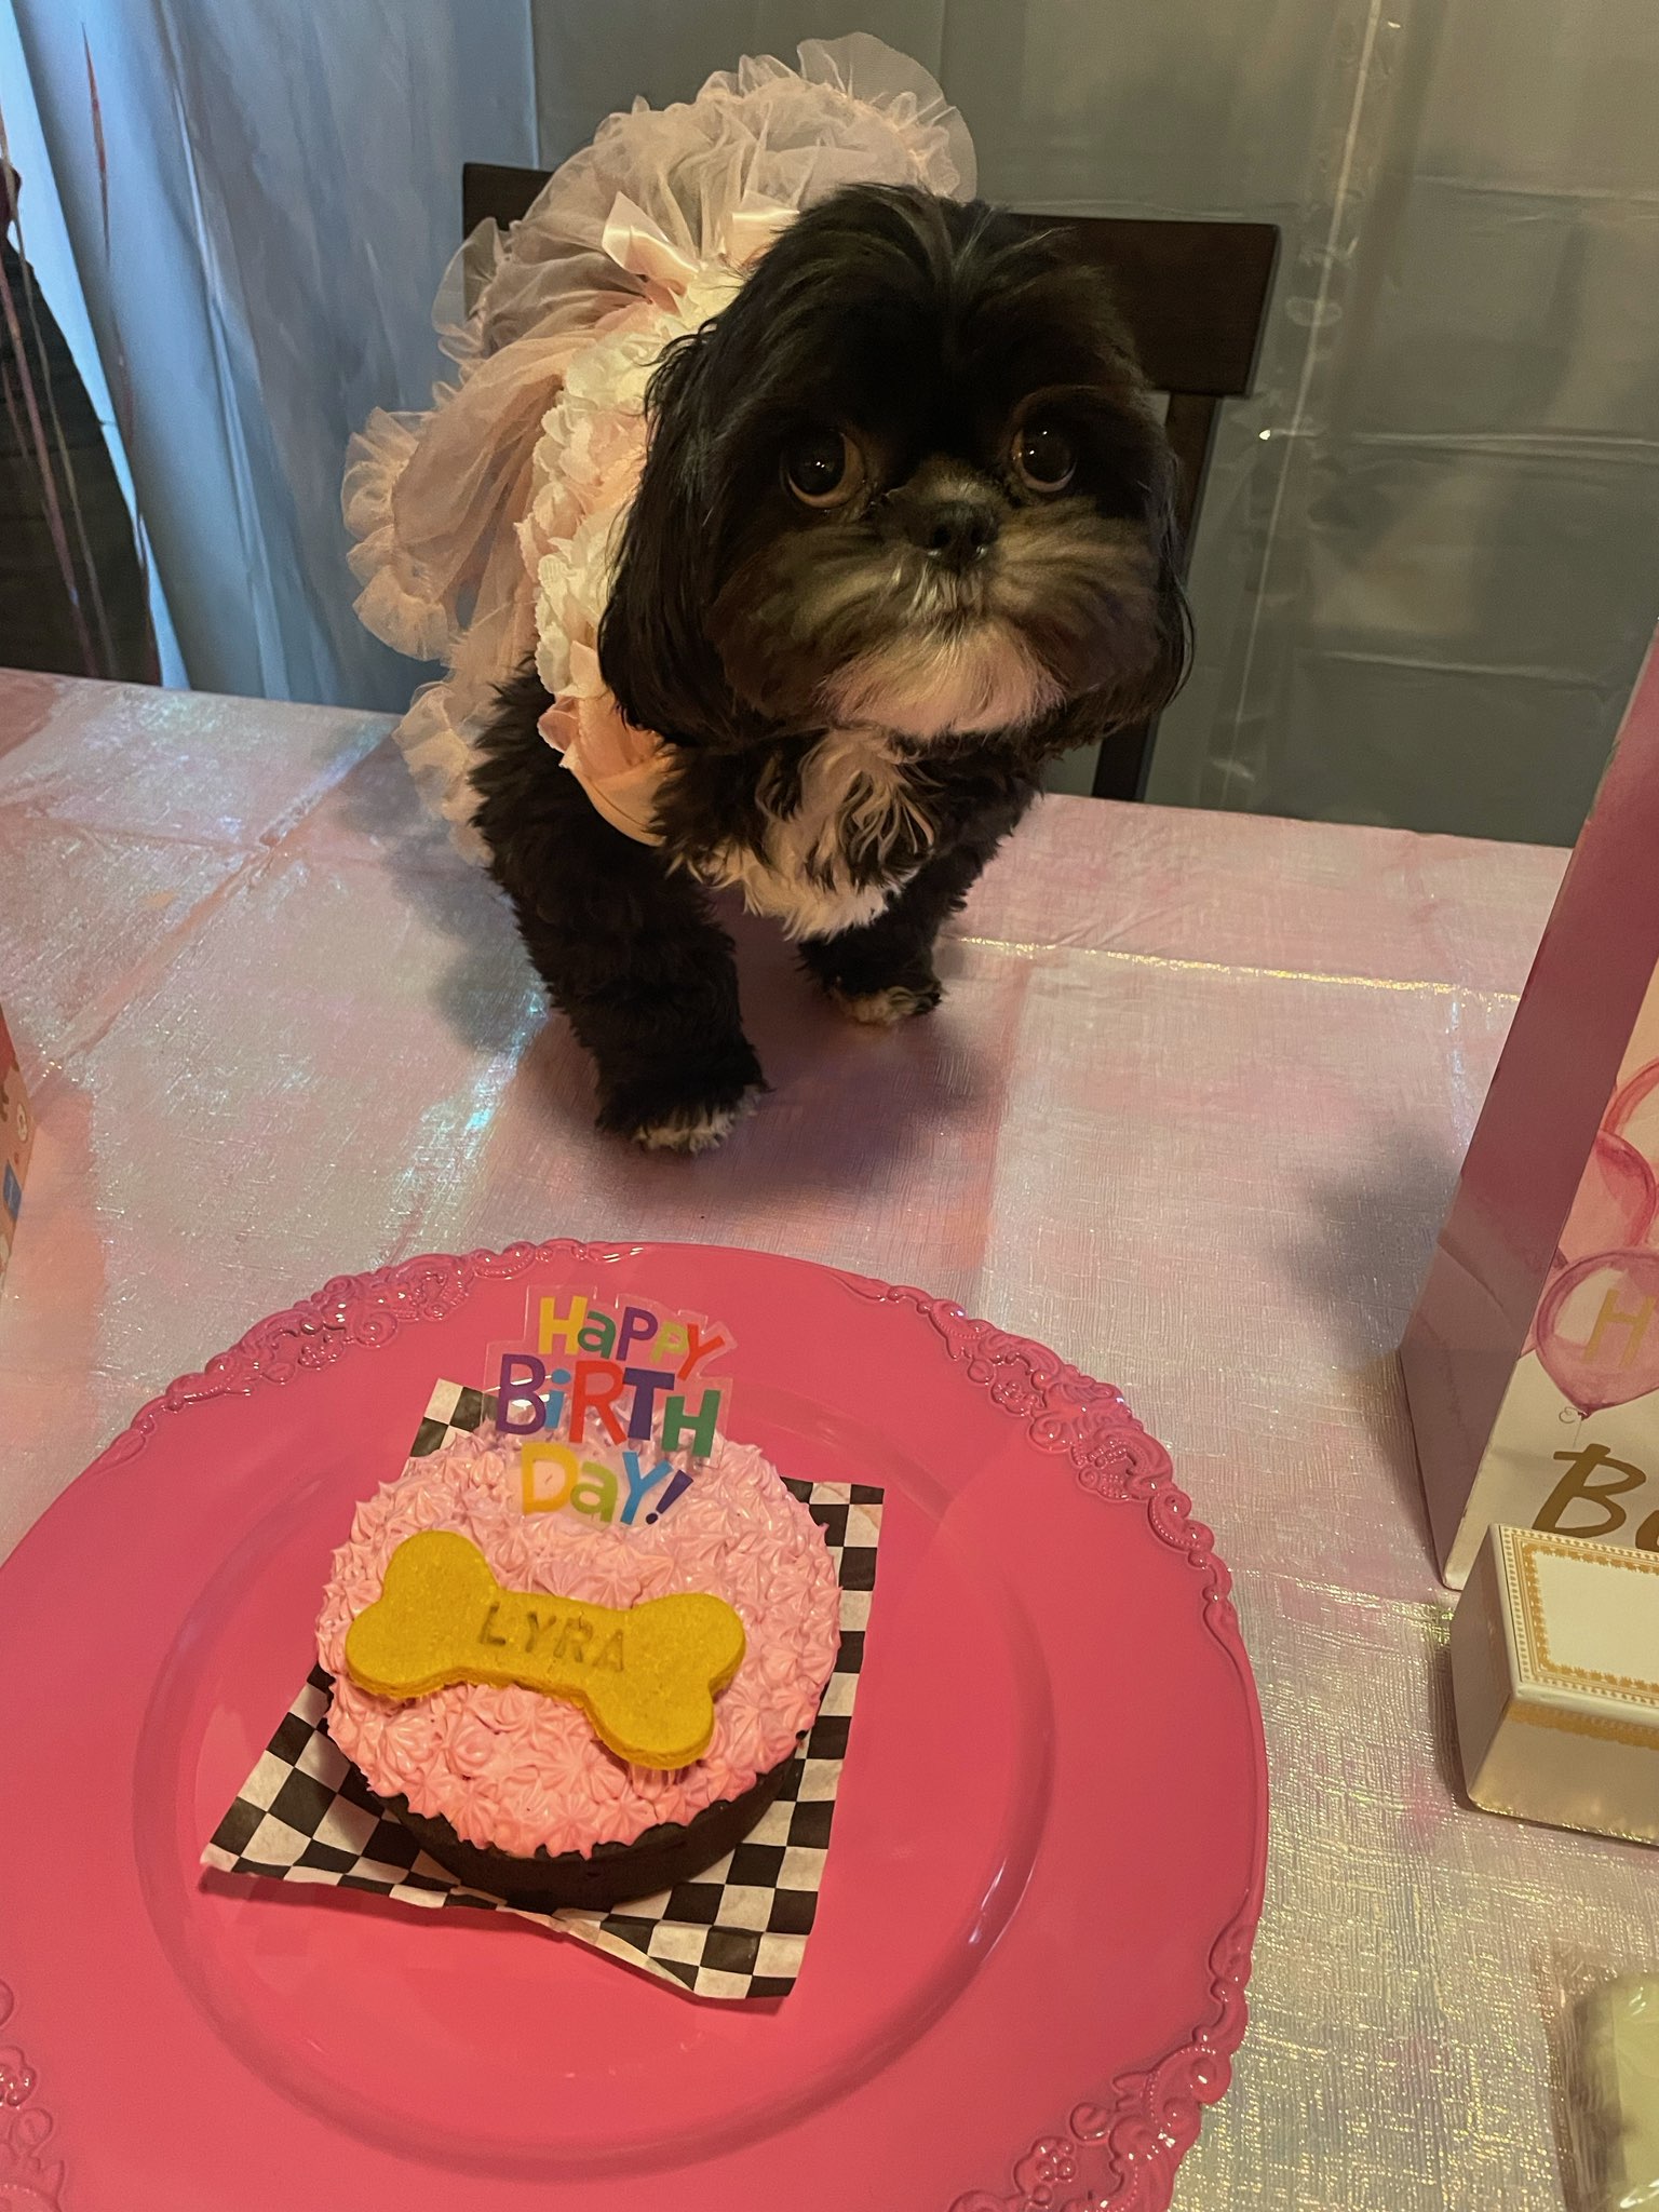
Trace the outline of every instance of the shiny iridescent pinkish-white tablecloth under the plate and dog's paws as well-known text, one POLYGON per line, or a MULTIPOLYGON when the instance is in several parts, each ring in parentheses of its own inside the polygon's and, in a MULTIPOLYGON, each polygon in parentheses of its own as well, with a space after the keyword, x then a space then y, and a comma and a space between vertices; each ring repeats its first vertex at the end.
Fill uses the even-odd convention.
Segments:
POLYGON ((1659 1962, 1659 1858, 1458 1798, 1394 1345, 1559 852, 1051 799, 900 1035, 741 929, 774 1095, 591 1126, 387 723, 0 675, 0 1004, 38 1106, 0 1553, 159 1385, 327 1276, 520 1237, 927 1285, 1121 1383, 1237 1573, 1274 1776, 1183 2212, 1559 2201, 1551 1960, 1659 1962))

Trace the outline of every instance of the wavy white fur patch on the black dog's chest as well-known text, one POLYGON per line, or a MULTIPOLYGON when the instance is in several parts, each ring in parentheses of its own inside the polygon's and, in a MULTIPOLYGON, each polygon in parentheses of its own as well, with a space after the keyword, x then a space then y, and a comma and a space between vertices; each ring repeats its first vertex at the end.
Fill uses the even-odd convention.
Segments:
POLYGON ((876 883, 854 883, 849 843, 858 852, 874 847, 880 858, 900 843, 914 854, 916 838, 931 836, 885 730, 830 730, 807 754, 801 805, 781 812, 774 796, 763 783, 761 852, 719 845, 697 874, 714 887, 741 889, 750 914, 770 914, 787 938, 834 938, 874 922, 916 872, 911 860, 891 872, 883 867, 876 883))

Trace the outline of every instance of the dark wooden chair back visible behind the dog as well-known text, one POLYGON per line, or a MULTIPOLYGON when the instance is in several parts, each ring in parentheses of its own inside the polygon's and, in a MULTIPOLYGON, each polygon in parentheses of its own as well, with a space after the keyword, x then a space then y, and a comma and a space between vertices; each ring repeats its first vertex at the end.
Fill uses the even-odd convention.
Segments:
MULTIPOLYGON (((460 173, 462 223, 487 215, 515 223, 546 184, 540 168, 469 161, 460 173)), ((1243 398, 1256 374, 1267 296, 1279 259, 1274 223, 1186 223, 1117 215, 1029 215, 1062 230, 1079 261, 1113 288, 1148 380, 1168 394, 1168 434, 1181 467, 1181 544, 1192 546, 1217 407, 1243 398)), ((1183 551, 1183 566, 1186 566, 1183 551)), ((1099 748, 1097 799, 1139 799, 1157 723, 1119 730, 1099 748)))

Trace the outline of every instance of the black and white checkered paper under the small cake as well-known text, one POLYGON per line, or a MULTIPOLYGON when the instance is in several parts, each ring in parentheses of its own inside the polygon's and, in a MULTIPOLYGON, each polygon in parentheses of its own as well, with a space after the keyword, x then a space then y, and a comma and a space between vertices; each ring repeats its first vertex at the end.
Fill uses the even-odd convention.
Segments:
MULTIPOLYGON (((416 1431, 414 1458, 440 1451, 476 1429, 493 1400, 440 1383, 416 1431)), ((429 1858, 387 1812, 358 1770, 330 1741, 332 1683, 312 1668, 259 1765, 201 1854, 221 1874, 261 1874, 276 1882, 367 1889, 403 1905, 515 1913, 560 1936, 575 1936, 628 1966, 697 1997, 787 1997, 801 1973, 818 1885, 830 1851, 847 1728, 865 1657, 869 1597, 876 1588, 883 1493, 863 1482, 785 1486, 825 1533, 841 1582, 841 1652, 818 1719, 783 1776, 783 1787, 743 1843, 699 1874, 653 1898, 608 1913, 535 1913, 467 1889, 429 1858)))

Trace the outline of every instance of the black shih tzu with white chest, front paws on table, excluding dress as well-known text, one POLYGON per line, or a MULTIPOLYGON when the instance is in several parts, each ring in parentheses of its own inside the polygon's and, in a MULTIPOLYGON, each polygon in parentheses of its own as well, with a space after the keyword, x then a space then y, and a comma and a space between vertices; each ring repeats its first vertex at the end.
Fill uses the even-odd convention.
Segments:
POLYGON ((599 1126, 695 1152, 765 1088, 708 889, 774 914, 854 1020, 927 1013, 1044 761, 1157 712, 1188 626, 1172 456, 1099 276, 982 204, 810 208, 648 416, 599 666, 670 748, 661 843, 562 770, 533 670, 476 823, 599 1126))

